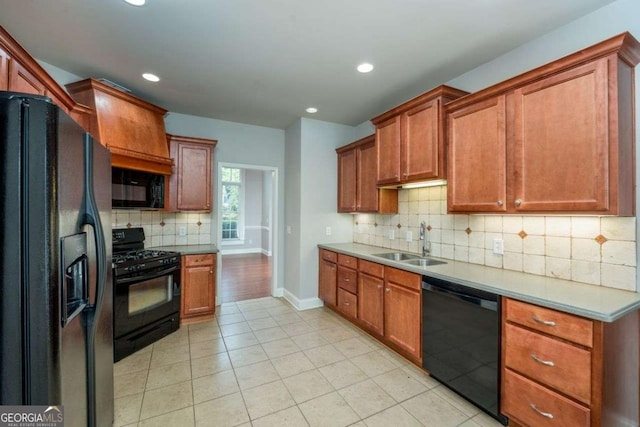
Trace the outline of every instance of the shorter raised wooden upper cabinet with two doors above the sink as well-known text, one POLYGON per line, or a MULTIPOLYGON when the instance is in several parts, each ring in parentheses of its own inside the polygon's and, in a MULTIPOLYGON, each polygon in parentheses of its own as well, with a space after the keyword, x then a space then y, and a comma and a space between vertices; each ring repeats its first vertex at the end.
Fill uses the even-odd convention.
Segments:
POLYGON ((445 177, 442 107, 466 94, 439 86, 371 119, 376 126, 378 185, 445 177))

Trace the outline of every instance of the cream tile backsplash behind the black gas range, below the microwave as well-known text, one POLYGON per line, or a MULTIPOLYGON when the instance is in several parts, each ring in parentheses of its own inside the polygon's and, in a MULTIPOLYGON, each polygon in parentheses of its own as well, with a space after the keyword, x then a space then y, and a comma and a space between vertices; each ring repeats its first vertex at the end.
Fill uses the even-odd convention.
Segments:
POLYGON ((211 214, 113 210, 113 228, 144 228, 145 247, 211 243, 211 214), (184 227, 186 235, 180 235, 184 227))

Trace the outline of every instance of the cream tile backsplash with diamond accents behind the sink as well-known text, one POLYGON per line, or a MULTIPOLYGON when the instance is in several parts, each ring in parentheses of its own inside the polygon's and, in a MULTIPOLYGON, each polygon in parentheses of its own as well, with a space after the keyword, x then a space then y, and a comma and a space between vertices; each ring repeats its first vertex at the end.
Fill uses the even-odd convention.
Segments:
POLYGON ((450 215, 446 198, 446 186, 400 190, 397 215, 354 216, 353 241, 421 252, 424 221, 435 257, 637 290, 634 217, 450 215))

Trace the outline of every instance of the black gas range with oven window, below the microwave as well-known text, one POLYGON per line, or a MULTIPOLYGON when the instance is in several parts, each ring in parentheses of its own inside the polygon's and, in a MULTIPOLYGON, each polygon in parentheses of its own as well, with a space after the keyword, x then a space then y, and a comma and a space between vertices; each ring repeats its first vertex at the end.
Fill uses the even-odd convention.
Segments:
POLYGON ((144 249, 144 229, 113 229, 116 361, 180 326, 180 253, 144 249))

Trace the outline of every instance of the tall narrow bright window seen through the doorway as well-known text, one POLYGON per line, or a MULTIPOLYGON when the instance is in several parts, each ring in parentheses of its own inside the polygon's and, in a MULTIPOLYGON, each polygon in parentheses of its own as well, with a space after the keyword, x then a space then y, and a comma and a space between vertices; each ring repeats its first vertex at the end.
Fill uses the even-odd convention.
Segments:
POLYGON ((242 169, 222 168, 222 240, 240 240, 242 169))

